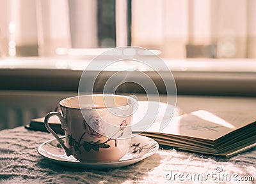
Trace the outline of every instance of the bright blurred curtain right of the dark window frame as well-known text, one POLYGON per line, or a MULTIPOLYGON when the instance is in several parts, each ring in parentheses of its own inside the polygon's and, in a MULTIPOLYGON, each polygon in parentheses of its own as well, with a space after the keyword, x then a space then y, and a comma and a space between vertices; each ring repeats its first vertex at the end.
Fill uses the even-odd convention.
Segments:
POLYGON ((256 58, 256 1, 132 1, 132 45, 162 57, 256 58))

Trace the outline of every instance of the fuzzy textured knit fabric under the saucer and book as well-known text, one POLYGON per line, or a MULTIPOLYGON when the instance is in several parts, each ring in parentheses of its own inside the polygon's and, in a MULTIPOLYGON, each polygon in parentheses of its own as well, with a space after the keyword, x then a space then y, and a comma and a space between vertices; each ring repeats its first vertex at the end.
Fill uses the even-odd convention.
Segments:
POLYGON ((256 183, 256 148, 230 159, 159 149, 131 166, 100 171, 44 159, 37 148, 52 138, 24 127, 0 131, 0 183, 256 183))

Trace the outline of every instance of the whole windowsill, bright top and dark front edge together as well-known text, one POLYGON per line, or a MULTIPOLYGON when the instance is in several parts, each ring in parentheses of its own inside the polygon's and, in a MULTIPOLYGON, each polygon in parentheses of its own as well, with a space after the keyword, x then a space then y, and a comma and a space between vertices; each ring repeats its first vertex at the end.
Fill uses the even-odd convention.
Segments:
MULTIPOLYGON (((175 78, 178 94, 256 96, 255 59, 165 61, 175 78)), ((63 57, 0 59, 0 89, 77 91, 81 74, 89 62, 90 59, 63 57)), ((138 68, 125 63, 109 67, 108 71, 104 72, 111 74, 111 71, 113 73, 120 69, 139 69, 152 74, 147 67, 138 68)), ((108 74, 106 76, 109 76, 108 74)), ((154 78, 154 74, 150 76, 154 78)))

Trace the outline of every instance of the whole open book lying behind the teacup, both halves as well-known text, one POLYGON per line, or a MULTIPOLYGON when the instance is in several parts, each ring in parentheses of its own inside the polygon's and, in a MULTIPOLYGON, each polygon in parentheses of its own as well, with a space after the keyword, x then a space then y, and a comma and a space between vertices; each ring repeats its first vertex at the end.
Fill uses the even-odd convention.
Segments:
MULTIPOLYGON (((256 146, 256 115, 253 110, 245 112, 227 110, 214 111, 214 113, 198 110, 183 113, 170 104, 159 103, 158 105, 159 111, 156 118, 147 121, 148 104, 146 101, 139 101, 133 123, 145 120, 148 126, 147 128, 132 126, 133 133, 153 138, 163 147, 175 147, 178 150, 224 157, 232 157, 256 146), (173 117, 166 116, 166 110, 174 111, 173 117), (168 120, 168 124, 160 129, 164 120, 168 120)), ((49 124, 54 131, 63 134, 57 117, 51 117, 49 124)), ((47 131, 44 118, 31 120, 28 127, 47 131)))

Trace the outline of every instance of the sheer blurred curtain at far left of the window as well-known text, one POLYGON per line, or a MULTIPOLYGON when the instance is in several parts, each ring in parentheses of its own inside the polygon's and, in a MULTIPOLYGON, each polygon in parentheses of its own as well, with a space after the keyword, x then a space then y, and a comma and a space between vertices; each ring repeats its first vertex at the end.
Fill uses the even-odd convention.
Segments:
POLYGON ((1 50, 10 56, 54 55, 70 47, 67 0, 1 0, 1 50))

